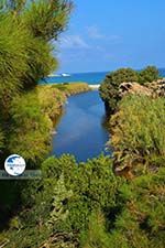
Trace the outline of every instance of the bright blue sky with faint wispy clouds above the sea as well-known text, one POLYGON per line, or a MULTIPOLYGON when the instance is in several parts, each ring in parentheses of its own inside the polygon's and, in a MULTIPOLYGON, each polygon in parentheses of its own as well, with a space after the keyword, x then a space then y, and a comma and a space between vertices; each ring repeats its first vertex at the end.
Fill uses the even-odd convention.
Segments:
POLYGON ((165 67, 164 0, 75 0, 61 35, 59 72, 165 67))

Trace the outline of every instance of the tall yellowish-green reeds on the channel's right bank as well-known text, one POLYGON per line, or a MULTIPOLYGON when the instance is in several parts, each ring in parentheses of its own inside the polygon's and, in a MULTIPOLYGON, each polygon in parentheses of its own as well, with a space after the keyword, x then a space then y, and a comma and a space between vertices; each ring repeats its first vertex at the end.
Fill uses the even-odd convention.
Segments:
POLYGON ((143 165, 143 172, 163 166, 165 161, 165 99, 128 96, 111 118, 111 144, 117 163, 143 165))

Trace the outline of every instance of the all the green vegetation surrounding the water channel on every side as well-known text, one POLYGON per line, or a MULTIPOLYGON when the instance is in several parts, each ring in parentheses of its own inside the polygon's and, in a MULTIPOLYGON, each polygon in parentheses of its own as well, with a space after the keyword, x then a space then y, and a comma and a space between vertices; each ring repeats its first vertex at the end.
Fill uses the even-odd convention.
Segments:
POLYGON ((163 248, 165 99, 119 103, 118 94, 122 82, 156 80, 155 67, 119 69, 100 87, 110 112, 119 107, 111 119, 113 160, 45 159, 66 97, 89 90, 84 83, 37 86, 57 67, 52 44, 70 10, 65 0, 1 1, 0 160, 19 153, 42 179, 0 182, 0 247, 163 248))

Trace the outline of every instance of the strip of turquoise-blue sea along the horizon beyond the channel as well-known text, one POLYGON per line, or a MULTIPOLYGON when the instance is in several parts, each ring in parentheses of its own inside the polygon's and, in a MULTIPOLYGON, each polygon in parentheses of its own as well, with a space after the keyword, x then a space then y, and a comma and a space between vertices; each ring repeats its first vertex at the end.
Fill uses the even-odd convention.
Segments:
MULTIPOLYGON (((165 68, 160 68, 160 76, 165 77, 165 68)), ((73 73, 69 76, 50 76, 42 79, 41 84, 62 84, 62 83, 76 83, 85 82, 89 85, 98 85, 105 79, 106 75, 110 72, 95 72, 95 73, 73 73)))

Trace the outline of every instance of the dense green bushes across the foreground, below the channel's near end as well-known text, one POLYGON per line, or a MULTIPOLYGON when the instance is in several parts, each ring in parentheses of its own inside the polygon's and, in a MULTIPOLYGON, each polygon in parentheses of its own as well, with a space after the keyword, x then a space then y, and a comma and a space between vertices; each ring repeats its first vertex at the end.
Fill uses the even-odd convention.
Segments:
POLYGON ((42 180, 22 191, 23 209, 11 218, 0 244, 8 248, 162 248, 165 170, 125 181, 101 155, 77 164, 74 157, 48 158, 42 180))

